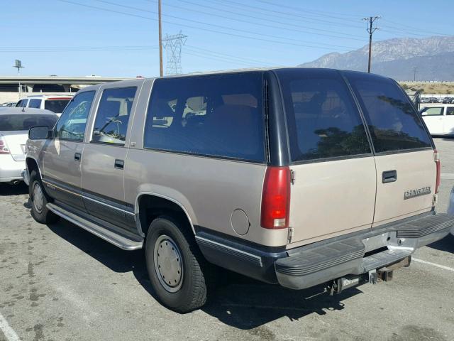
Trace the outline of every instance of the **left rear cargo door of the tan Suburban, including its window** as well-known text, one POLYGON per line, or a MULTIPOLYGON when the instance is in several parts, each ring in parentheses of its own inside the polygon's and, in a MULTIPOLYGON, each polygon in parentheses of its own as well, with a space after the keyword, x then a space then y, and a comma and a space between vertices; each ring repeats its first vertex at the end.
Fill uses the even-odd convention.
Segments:
POLYGON ((294 184, 290 227, 307 244, 372 226, 376 172, 360 112, 335 70, 276 70, 294 184))

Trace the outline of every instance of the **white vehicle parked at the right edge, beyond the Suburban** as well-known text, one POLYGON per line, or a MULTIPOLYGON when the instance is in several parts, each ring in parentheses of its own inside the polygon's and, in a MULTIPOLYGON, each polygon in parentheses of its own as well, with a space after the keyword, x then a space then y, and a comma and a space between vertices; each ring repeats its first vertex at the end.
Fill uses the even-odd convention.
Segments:
POLYGON ((420 112, 432 136, 454 136, 454 104, 426 104, 420 112))

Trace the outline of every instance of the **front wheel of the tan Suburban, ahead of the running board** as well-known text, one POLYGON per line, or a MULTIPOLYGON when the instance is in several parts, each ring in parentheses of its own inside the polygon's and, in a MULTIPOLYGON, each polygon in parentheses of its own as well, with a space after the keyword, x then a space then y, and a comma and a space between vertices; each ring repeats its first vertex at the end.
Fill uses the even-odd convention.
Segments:
POLYGON ((30 175, 30 186, 28 194, 31 201, 31 215, 40 224, 51 224, 58 220, 58 216, 51 212, 46 205, 48 205, 49 197, 45 193, 43 183, 35 171, 30 175))

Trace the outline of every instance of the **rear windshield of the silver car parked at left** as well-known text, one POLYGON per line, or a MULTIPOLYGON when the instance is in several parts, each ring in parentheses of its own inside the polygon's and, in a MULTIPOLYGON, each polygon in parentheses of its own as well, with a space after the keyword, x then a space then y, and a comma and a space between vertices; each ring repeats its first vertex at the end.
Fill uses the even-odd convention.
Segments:
POLYGON ((0 131, 26 131, 32 126, 48 126, 51 129, 58 117, 55 115, 0 115, 0 131))

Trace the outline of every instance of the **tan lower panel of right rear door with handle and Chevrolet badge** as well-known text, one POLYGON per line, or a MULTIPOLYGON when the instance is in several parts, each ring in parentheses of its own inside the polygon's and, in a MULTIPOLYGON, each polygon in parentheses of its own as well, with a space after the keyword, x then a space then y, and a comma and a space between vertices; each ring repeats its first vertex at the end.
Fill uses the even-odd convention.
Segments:
POLYGON ((432 209, 436 185, 432 150, 376 156, 375 163, 377 202, 374 226, 432 209), (394 173, 395 179, 385 179, 394 173))

